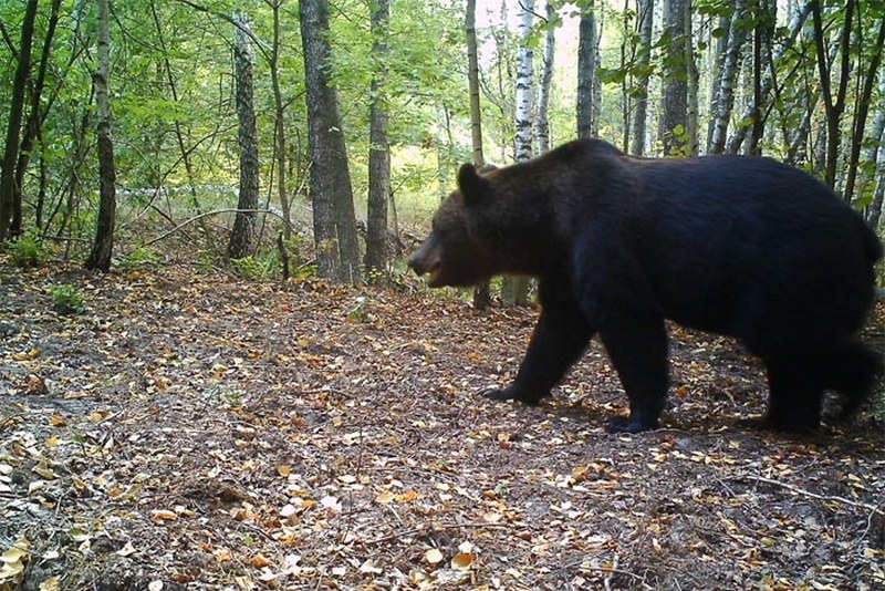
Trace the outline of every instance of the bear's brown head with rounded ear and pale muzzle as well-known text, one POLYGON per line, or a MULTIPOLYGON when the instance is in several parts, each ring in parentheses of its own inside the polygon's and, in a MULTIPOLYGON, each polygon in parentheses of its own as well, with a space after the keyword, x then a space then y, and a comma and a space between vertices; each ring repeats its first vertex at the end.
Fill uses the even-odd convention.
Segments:
MULTIPOLYGON (((483 168, 488 169, 493 168, 483 168)), ((470 287, 500 272, 478 226, 480 208, 491 193, 483 173, 470 164, 461 166, 458 190, 439 206, 430 236, 408 260, 416 273, 429 274, 431 288, 470 287)))

